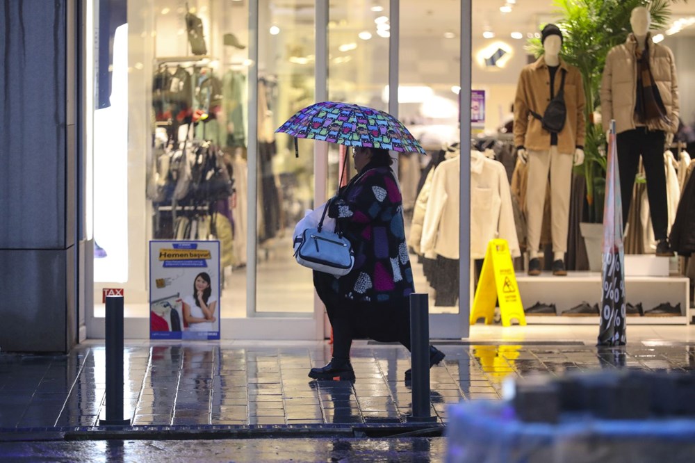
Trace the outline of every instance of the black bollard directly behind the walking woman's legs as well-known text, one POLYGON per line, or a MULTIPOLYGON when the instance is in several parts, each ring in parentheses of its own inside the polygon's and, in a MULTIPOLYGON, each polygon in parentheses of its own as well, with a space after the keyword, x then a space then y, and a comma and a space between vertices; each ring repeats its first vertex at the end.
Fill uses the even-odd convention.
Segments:
POLYGON ((436 416, 430 416, 430 309, 427 294, 410 295, 410 356, 413 414, 407 417, 407 421, 436 421, 436 416))

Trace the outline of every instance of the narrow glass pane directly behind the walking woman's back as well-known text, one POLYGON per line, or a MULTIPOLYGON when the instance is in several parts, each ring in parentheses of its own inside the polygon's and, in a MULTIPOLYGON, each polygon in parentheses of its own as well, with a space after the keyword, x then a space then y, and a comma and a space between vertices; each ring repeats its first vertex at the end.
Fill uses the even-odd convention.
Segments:
POLYGON ((459 142, 461 26, 459 2, 435 3, 441 8, 400 2, 398 117, 427 155, 401 154, 398 167, 415 287, 430 295, 430 312, 440 314, 459 307, 459 177, 448 176, 454 181, 428 201, 428 172, 458 154, 443 147, 459 142))

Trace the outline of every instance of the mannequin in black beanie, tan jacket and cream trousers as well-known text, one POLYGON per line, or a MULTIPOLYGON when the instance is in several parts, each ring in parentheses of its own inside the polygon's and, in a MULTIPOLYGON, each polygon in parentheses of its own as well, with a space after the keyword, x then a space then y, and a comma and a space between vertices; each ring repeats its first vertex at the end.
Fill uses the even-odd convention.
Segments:
POLYGON ((562 32, 547 24, 541 32, 543 56, 521 70, 514 99, 514 143, 516 153, 528 162, 526 192, 529 275, 540 275, 539 246, 543 203, 550 174, 550 213, 553 232, 553 275, 567 275, 564 254, 567 251, 569 200, 572 167, 584 162, 584 86, 579 70, 562 60, 562 32), (550 99, 559 92, 564 74, 566 119, 559 133, 543 128, 538 117, 550 99))

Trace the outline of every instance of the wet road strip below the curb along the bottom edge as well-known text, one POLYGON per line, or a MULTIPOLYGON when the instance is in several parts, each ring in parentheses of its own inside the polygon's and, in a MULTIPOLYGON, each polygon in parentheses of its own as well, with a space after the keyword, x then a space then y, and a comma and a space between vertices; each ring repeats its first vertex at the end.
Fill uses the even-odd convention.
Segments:
POLYGON ((215 439, 6 442, 8 461, 441 462, 445 438, 215 439))

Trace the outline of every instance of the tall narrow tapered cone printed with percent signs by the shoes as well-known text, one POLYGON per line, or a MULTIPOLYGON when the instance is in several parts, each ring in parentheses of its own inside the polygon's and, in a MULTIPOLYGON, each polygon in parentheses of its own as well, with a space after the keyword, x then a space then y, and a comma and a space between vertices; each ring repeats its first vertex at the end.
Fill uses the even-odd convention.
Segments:
POLYGON ((616 147, 615 121, 610 124, 603 207, 603 271, 601 273, 601 323, 598 346, 625 346, 625 251, 623 249, 623 204, 616 147))

